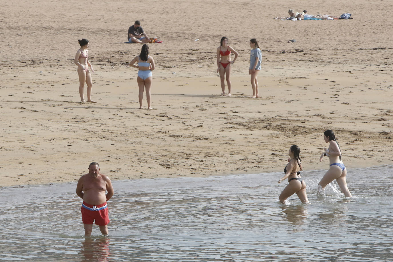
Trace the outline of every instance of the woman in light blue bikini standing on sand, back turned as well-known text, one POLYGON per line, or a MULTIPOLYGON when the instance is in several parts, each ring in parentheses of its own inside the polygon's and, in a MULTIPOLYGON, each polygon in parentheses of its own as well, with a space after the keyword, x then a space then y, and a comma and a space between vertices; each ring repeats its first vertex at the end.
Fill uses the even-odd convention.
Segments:
POLYGON ((151 71, 154 70, 155 66, 153 58, 149 55, 149 46, 147 44, 142 46, 140 55, 134 57, 129 65, 139 69, 137 78, 139 86, 139 108, 142 108, 143 90, 146 88, 147 108, 153 109, 150 106, 150 89, 153 82, 151 71), (135 65, 135 62, 138 62, 138 66, 135 65))

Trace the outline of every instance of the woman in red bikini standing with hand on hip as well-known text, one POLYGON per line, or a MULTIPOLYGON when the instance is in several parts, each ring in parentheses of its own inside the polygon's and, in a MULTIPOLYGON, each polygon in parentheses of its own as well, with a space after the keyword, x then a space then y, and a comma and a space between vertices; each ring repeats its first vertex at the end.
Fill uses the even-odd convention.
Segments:
POLYGON ((220 95, 225 95, 225 77, 226 83, 228 84, 228 96, 231 96, 231 67, 232 64, 236 61, 238 55, 239 53, 237 53, 235 49, 228 46, 228 38, 222 37, 220 46, 217 48, 217 72, 220 72, 222 89, 222 93, 220 95), (235 58, 233 61, 231 61, 231 52, 235 53, 235 58))

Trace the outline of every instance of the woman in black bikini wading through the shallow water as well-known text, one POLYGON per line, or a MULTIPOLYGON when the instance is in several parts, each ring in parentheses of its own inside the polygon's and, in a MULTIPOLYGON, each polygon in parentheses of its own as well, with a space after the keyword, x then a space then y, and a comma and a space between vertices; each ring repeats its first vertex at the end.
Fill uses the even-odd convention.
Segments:
POLYGON ((285 200, 296 193, 303 203, 308 203, 309 199, 306 194, 306 182, 300 176, 300 170, 303 171, 301 166, 301 160, 299 157, 300 148, 296 145, 293 145, 289 148, 288 155, 288 164, 286 165, 284 172, 285 176, 283 176, 278 183, 288 178, 288 185, 285 187, 283 192, 281 192, 279 200, 281 203, 285 203, 285 200))

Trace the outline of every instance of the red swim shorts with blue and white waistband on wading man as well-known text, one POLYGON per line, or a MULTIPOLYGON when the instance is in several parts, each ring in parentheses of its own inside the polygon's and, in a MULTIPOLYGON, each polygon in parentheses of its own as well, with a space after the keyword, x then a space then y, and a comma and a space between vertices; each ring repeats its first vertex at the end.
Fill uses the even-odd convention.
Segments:
POLYGON ((107 202, 95 206, 83 201, 81 212, 83 224, 92 225, 94 220, 96 225, 108 225, 109 223, 107 202))

